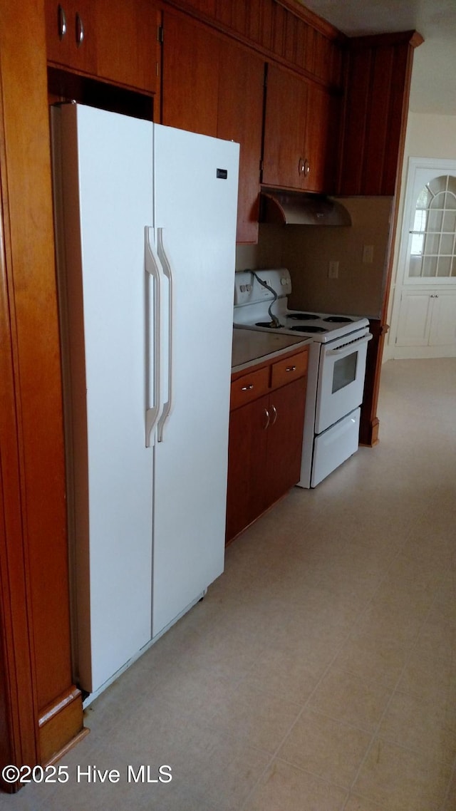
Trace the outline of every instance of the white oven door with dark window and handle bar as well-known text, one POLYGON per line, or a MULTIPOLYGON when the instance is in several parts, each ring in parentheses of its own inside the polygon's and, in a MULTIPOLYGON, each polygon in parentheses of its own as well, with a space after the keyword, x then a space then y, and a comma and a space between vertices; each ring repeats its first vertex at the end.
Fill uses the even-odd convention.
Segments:
POLYGON ((361 405, 371 338, 372 335, 364 330, 322 344, 316 390, 316 434, 361 405))

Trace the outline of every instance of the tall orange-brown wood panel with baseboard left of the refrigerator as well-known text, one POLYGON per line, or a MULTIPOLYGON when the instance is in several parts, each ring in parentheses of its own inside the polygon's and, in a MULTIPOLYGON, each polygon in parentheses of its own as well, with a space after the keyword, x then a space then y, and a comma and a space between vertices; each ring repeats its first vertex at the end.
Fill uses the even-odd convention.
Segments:
POLYGON ((0 766, 33 766, 84 734, 71 684, 44 0, 0 4, 0 116, 0 766))

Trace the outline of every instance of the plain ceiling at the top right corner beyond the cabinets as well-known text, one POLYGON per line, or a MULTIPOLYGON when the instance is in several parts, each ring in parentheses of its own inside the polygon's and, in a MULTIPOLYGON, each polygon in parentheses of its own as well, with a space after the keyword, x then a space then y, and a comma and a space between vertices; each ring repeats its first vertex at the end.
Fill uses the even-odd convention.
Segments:
POLYGON ((456 0, 300 0, 348 36, 415 29, 410 109, 456 115, 456 0))

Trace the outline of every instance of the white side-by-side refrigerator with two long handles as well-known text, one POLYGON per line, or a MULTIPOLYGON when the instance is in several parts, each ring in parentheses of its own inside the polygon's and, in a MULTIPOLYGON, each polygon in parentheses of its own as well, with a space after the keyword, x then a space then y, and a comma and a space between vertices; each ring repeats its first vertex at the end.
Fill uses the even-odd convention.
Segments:
POLYGON ((88 693, 224 565, 239 145, 52 109, 74 677, 88 693))

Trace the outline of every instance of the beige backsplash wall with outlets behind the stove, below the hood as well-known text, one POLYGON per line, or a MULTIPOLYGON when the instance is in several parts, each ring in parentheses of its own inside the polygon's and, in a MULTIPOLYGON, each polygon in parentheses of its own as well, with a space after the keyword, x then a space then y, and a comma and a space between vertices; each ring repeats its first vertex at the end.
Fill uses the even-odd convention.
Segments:
POLYGON ((239 246, 236 269, 289 268, 295 309, 353 313, 377 318, 381 311, 389 234, 390 197, 339 198, 352 225, 260 225, 258 246, 239 246), (373 246, 363 263, 364 245, 373 246), (329 279, 329 261, 338 278, 329 279))

